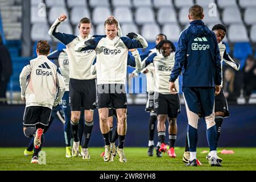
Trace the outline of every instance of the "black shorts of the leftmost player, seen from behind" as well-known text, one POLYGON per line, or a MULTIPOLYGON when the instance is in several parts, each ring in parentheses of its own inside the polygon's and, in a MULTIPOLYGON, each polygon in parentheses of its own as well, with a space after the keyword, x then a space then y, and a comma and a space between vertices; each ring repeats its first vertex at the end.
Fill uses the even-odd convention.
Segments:
POLYGON ((30 106, 26 107, 23 115, 23 126, 35 126, 38 124, 48 126, 52 110, 49 107, 30 106))

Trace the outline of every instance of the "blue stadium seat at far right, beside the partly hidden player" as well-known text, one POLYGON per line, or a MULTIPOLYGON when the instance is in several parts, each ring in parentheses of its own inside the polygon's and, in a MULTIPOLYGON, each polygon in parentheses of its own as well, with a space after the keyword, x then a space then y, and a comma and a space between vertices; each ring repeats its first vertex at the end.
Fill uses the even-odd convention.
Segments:
POLYGON ((236 59, 241 60, 241 68, 245 65, 245 60, 248 55, 252 55, 253 50, 251 49, 249 42, 241 42, 241 43, 235 43, 234 44, 234 52, 233 56, 236 59))

